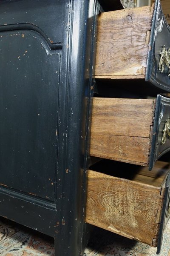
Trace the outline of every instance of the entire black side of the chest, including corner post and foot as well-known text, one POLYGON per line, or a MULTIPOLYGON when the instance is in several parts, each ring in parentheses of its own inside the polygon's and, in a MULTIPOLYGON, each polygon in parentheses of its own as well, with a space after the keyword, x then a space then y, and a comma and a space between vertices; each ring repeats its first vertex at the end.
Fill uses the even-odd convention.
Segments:
POLYGON ((82 255, 96 0, 0 2, 0 216, 82 255))

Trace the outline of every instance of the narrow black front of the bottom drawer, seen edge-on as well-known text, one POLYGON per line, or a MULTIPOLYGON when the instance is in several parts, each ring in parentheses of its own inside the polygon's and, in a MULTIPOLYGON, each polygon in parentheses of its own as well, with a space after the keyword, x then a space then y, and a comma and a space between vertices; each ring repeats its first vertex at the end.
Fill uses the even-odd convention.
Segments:
POLYGON ((159 237, 158 237, 158 245, 157 245, 157 254, 161 251, 161 244, 163 239, 164 229, 166 227, 167 221, 170 219, 170 173, 167 176, 166 184, 165 184, 165 194, 164 194, 164 203, 162 207, 161 213, 161 223, 159 228, 159 237))

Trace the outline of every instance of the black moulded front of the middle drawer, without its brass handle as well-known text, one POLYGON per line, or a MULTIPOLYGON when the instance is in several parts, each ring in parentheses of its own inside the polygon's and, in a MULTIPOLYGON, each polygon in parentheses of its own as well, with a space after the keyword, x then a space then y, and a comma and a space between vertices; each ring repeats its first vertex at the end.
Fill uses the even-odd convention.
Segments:
POLYGON ((170 99, 158 95, 156 99, 149 170, 152 170, 154 163, 161 157, 161 155, 164 155, 170 150, 170 137, 168 135, 166 135, 166 142, 164 144, 161 143, 165 121, 169 118, 170 99))

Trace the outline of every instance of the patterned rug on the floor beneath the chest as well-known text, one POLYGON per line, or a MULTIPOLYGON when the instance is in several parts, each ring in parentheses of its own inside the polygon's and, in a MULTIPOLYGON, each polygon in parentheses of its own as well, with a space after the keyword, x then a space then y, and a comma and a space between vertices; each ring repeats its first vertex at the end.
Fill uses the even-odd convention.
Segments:
MULTIPOLYGON (((54 239, 0 218, 1 256, 54 256, 54 239)), ((94 228, 84 256, 156 256, 156 248, 94 228)), ((170 222, 159 256, 170 256, 170 222)))

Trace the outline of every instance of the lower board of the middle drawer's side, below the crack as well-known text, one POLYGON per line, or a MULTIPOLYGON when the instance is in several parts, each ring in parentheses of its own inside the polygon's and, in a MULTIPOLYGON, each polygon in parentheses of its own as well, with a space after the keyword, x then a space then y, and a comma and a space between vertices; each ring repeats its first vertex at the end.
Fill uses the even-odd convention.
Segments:
POLYGON ((149 138, 97 135, 91 136, 90 155, 147 166, 149 138))

